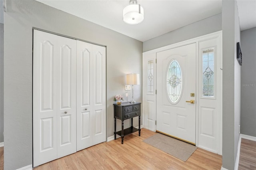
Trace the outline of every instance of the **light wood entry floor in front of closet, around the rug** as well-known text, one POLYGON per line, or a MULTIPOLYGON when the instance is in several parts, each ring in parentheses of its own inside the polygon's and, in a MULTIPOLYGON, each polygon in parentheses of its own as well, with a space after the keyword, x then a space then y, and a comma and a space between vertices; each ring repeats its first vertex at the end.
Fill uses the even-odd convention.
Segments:
POLYGON ((141 136, 138 136, 138 132, 125 136, 124 144, 121 144, 121 138, 103 142, 38 166, 34 170, 220 170, 222 156, 218 154, 198 148, 183 162, 142 142, 154 134, 155 132, 142 128, 141 136))

